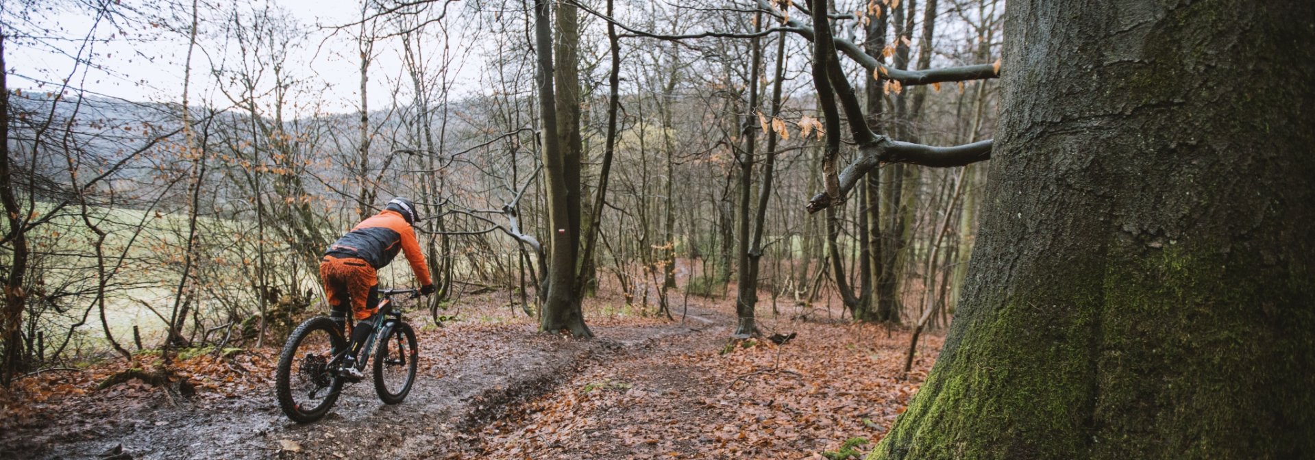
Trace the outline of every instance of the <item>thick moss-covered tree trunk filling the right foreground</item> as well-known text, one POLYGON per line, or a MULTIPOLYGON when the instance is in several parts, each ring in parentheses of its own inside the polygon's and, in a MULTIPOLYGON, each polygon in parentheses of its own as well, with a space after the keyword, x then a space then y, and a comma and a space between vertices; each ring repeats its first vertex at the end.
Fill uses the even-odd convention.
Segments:
POLYGON ((1010 1, 964 301, 869 457, 1315 456, 1312 18, 1010 1))

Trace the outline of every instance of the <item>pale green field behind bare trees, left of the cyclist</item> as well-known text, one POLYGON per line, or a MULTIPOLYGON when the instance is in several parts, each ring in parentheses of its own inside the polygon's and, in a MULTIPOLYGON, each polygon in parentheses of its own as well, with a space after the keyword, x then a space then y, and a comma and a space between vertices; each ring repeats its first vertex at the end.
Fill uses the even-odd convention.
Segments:
MULTIPOLYGON (((36 212, 39 218, 53 209, 54 204, 41 202, 36 212)), ((83 322, 85 314, 84 323, 74 329, 74 343, 84 350, 105 347, 96 296, 97 235, 88 226, 89 221, 105 233, 101 244, 107 273, 104 308, 110 333, 129 347, 133 326, 137 326, 146 347, 158 344, 166 330, 160 317, 171 314, 184 267, 187 216, 124 208, 89 208, 87 214, 84 219, 79 208, 66 206, 47 223, 28 233, 33 252, 28 321, 36 318, 39 330, 51 340, 83 322)), ((255 233, 249 227, 254 225, 220 218, 197 221, 199 244, 192 269, 200 280, 195 301, 201 306, 203 327, 258 309, 255 289, 249 281, 255 273, 251 254, 256 241, 249 237, 255 233)), ((292 258, 277 256, 287 251, 268 238, 267 252, 271 273, 279 272, 283 277, 301 273, 301 279, 308 279, 306 269, 289 269, 292 258)), ((3 263, 9 264, 11 256, 5 252, 3 263)))

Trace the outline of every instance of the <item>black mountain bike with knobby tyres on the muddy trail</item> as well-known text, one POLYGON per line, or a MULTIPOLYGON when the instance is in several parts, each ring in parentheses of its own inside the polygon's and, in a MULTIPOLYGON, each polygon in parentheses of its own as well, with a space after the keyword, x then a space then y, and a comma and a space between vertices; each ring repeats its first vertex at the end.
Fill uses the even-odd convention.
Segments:
MULTIPOLYGON (((367 363, 373 365, 375 393, 388 405, 402 402, 416 382, 416 331, 402 321, 401 310, 393 308, 392 296, 400 294, 416 298, 419 290, 379 290, 379 319, 360 348, 367 352, 356 361, 359 371, 364 371, 367 363), (370 355, 373 355, 372 360, 370 355)), ((288 336, 275 375, 279 407, 288 418, 299 423, 318 421, 338 401, 343 384, 354 381, 341 372, 347 356, 348 323, 355 325, 350 314, 343 322, 314 317, 288 336)))

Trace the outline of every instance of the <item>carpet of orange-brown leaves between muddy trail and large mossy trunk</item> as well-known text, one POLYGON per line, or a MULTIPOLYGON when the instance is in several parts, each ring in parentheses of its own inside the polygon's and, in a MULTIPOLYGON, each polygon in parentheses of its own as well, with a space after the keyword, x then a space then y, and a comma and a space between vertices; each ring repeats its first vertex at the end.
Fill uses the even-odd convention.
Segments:
MULTIPOLYGON (((731 313, 729 305, 717 308, 731 313)), ((896 377, 907 333, 888 338, 873 325, 775 326, 798 335, 785 346, 743 340, 723 347, 723 335, 705 334, 600 363, 488 426, 479 452, 509 459, 604 448, 636 459, 861 452, 873 444, 842 444, 856 436, 880 440, 920 385, 896 377)), ((939 347, 940 339, 931 338, 915 369, 930 369, 939 347)))

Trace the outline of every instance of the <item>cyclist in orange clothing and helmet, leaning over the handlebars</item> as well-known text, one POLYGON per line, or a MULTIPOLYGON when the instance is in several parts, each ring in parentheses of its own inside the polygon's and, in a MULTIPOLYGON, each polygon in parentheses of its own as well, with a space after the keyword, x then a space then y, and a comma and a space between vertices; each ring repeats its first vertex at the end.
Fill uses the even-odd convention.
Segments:
POLYGON ((330 318, 339 325, 347 322, 347 302, 356 326, 351 331, 342 373, 347 377, 363 377, 356 368, 356 354, 375 330, 376 305, 379 304, 379 280, 375 271, 393 262, 397 251, 406 252, 406 262, 419 280, 422 294, 434 292, 429 279, 429 265, 416 241, 416 205, 410 200, 396 197, 388 201, 379 214, 356 223, 347 234, 338 238, 325 251, 320 262, 320 277, 325 284, 331 309, 330 318))

